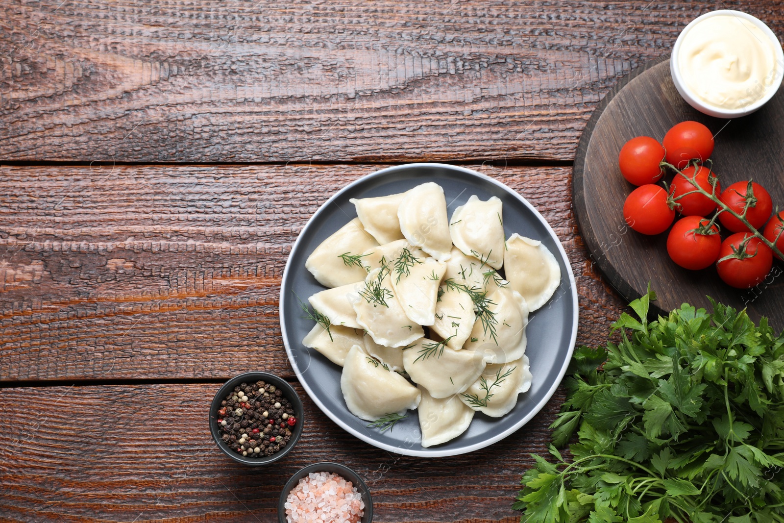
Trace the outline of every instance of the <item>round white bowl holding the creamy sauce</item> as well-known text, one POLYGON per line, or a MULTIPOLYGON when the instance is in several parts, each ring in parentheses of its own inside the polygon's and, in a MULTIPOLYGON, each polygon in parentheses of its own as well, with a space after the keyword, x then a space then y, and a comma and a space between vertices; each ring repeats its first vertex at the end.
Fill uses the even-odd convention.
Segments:
POLYGON ((715 116, 717 118, 738 118, 739 116, 746 116, 746 114, 751 114, 754 111, 757 111, 760 107, 770 100, 773 95, 775 95, 776 91, 779 90, 779 86, 782 84, 782 78, 784 78, 784 51, 782 51, 782 45, 779 42, 779 38, 771 31, 770 27, 765 25, 765 23, 754 17, 748 13, 742 13, 741 11, 735 11, 733 9, 719 9, 717 11, 711 11, 710 13, 705 13, 702 16, 698 16, 694 20, 691 20, 691 23, 688 24, 683 31, 681 31, 681 35, 678 35, 677 40, 675 41, 675 45, 673 46, 673 53, 670 56, 670 73, 673 75, 673 83, 675 84, 675 88, 678 90, 678 93, 681 93, 681 96, 684 97, 684 100, 688 102, 691 107, 694 107, 697 111, 700 111, 705 114, 710 114, 710 116, 715 116), (745 20, 749 20, 752 24, 759 27, 765 35, 768 35, 771 38, 771 42, 774 42, 773 48, 775 49, 776 53, 776 76, 773 78, 773 82, 771 85, 768 86, 768 89, 764 93, 764 96, 760 97, 759 100, 755 101, 753 104, 747 105, 746 107, 740 107, 739 109, 725 109, 724 107, 717 107, 715 105, 706 104, 706 102, 699 99, 698 96, 688 88, 685 84, 683 77, 681 76, 681 69, 678 67, 678 53, 681 50, 681 43, 683 42, 684 35, 688 33, 691 27, 694 27, 696 24, 699 24, 700 21, 705 20, 706 18, 710 18, 711 16, 719 16, 719 15, 731 15, 731 16, 739 16, 745 20))

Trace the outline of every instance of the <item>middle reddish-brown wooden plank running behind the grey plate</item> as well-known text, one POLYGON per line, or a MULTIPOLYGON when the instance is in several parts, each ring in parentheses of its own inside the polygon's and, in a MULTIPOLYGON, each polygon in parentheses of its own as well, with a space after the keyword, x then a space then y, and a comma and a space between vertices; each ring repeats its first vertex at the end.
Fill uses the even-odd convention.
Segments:
MULTIPOLYGON (((622 303, 577 234, 571 169, 476 168, 554 227, 577 278, 578 343, 601 343, 622 303)), ((278 327, 290 245, 376 169, 0 168, 0 379, 224 379, 249 357, 291 376, 278 327)))

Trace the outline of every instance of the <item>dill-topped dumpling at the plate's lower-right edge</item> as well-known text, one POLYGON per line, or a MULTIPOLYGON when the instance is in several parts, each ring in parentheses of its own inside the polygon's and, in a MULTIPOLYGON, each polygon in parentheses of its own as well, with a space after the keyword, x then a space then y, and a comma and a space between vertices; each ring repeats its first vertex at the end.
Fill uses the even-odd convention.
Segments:
POLYGON ((471 409, 499 418, 517 405, 517 394, 528 392, 533 376, 528 356, 516 361, 488 365, 481 378, 460 394, 471 409))

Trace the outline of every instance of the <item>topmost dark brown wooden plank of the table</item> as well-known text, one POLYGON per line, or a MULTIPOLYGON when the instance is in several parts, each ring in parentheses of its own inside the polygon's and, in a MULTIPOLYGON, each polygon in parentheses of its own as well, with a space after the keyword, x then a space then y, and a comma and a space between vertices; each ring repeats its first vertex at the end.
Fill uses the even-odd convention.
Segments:
MULTIPOLYGON (((571 159, 699 2, 11 0, 0 158, 571 159)), ((784 32, 779 0, 733 2, 784 32)))

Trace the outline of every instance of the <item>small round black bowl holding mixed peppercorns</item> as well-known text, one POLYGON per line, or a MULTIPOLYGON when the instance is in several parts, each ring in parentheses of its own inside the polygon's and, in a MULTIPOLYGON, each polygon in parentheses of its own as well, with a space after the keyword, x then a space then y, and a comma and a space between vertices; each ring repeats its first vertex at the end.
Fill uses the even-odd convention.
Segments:
POLYGON ((299 441, 299 436, 302 435, 304 421, 303 413, 302 401, 299 400, 299 396, 296 395, 296 391, 292 388, 291 385, 289 385, 289 382, 286 380, 281 380, 281 378, 278 378, 278 376, 269 374, 267 372, 245 372, 245 374, 240 374, 236 378, 228 380, 226 383, 224 383, 223 387, 220 387, 218 392, 215 394, 215 398, 212 399, 212 405, 209 407, 209 433, 212 434, 212 439, 215 440, 218 448, 221 449, 223 453, 229 456, 231 459, 234 459, 234 461, 251 466, 269 465, 270 463, 275 463, 276 461, 283 459, 286 454, 291 452, 291 450, 294 448, 294 445, 296 445, 296 442, 299 441), (251 458, 234 452, 229 448, 229 445, 226 445, 220 438, 220 427, 218 427, 218 409, 220 409, 220 402, 226 398, 230 390, 234 390, 234 387, 237 387, 242 382, 253 383, 256 381, 269 383, 270 385, 274 385, 276 388, 282 390, 283 396, 289 400, 289 402, 291 402, 292 407, 294 408, 294 417, 296 417, 297 421, 294 425, 294 430, 292 431, 292 437, 289 439, 289 443, 280 452, 275 452, 271 456, 251 458))

